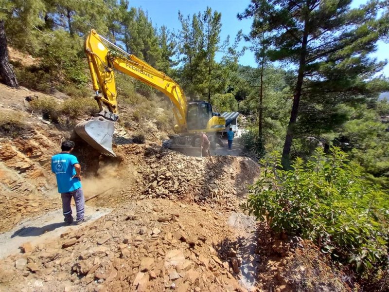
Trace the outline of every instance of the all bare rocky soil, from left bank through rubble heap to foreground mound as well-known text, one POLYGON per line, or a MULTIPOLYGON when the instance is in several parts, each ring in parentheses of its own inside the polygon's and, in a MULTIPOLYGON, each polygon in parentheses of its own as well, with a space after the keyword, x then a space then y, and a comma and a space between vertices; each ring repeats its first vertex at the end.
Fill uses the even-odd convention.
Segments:
MULTIPOLYGON (((0 110, 26 125, 0 136, 0 232, 60 208, 50 157, 71 132, 27 114, 29 94, 0 85, 0 110)), ((348 291, 313 244, 241 213, 256 161, 186 157, 155 139, 128 144, 120 126, 116 133, 127 141, 117 158, 81 141, 74 152, 88 204, 113 211, 0 259, 0 291, 348 291)))

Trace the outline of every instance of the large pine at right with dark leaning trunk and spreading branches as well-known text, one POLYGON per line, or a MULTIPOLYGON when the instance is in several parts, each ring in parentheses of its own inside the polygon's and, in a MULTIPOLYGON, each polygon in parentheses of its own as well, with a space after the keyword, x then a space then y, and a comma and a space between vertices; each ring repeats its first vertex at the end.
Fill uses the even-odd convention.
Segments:
POLYGON ((385 2, 374 0, 350 9, 351 0, 252 0, 245 13, 238 16, 253 17, 252 38, 266 34, 272 44, 268 53, 271 60, 296 67, 293 106, 283 147, 284 166, 296 133, 309 134, 299 130, 302 121, 316 126, 321 123, 327 126, 324 131, 328 130, 335 125, 326 123, 344 122, 336 112, 337 103, 351 92, 369 91, 364 80, 384 65, 368 54, 388 33, 385 2), (309 119, 303 118, 305 113, 309 119))

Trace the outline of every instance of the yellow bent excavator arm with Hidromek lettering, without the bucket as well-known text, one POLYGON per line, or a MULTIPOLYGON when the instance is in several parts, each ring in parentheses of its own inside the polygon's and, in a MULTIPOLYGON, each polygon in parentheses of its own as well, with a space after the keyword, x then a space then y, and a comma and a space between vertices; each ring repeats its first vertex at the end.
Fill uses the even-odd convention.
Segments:
POLYGON ((187 100, 174 79, 151 67, 135 55, 126 53, 94 30, 89 33, 85 41, 85 52, 101 116, 114 122, 119 118, 114 72, 116 69, 168 96, 177 120, 175 131, 178 133, 187 131, 187 100), (99 93, 100 90, 102 94, 99 93))

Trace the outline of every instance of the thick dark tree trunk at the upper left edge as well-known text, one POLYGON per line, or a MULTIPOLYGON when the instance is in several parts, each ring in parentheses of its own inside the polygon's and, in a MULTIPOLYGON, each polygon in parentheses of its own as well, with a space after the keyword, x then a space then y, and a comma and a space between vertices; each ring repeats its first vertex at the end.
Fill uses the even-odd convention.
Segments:
POLYGON ((9 63, 7 37, 5 36, 4 20, 0 20, 0 76, 5 85, 19 88, 12 66, 9 63))

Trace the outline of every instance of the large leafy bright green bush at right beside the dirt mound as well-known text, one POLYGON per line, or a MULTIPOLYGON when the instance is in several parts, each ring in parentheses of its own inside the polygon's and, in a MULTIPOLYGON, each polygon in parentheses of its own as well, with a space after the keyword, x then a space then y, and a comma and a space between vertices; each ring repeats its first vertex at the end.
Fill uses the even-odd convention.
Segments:
POLYGON ((243 208, 266 217, 276 232, 301 235, 357 271, 388 267, 389 195, 369 182, 359 164, 339 148, 281 169, 278 152, 261 161, 263 170, 243 208))

